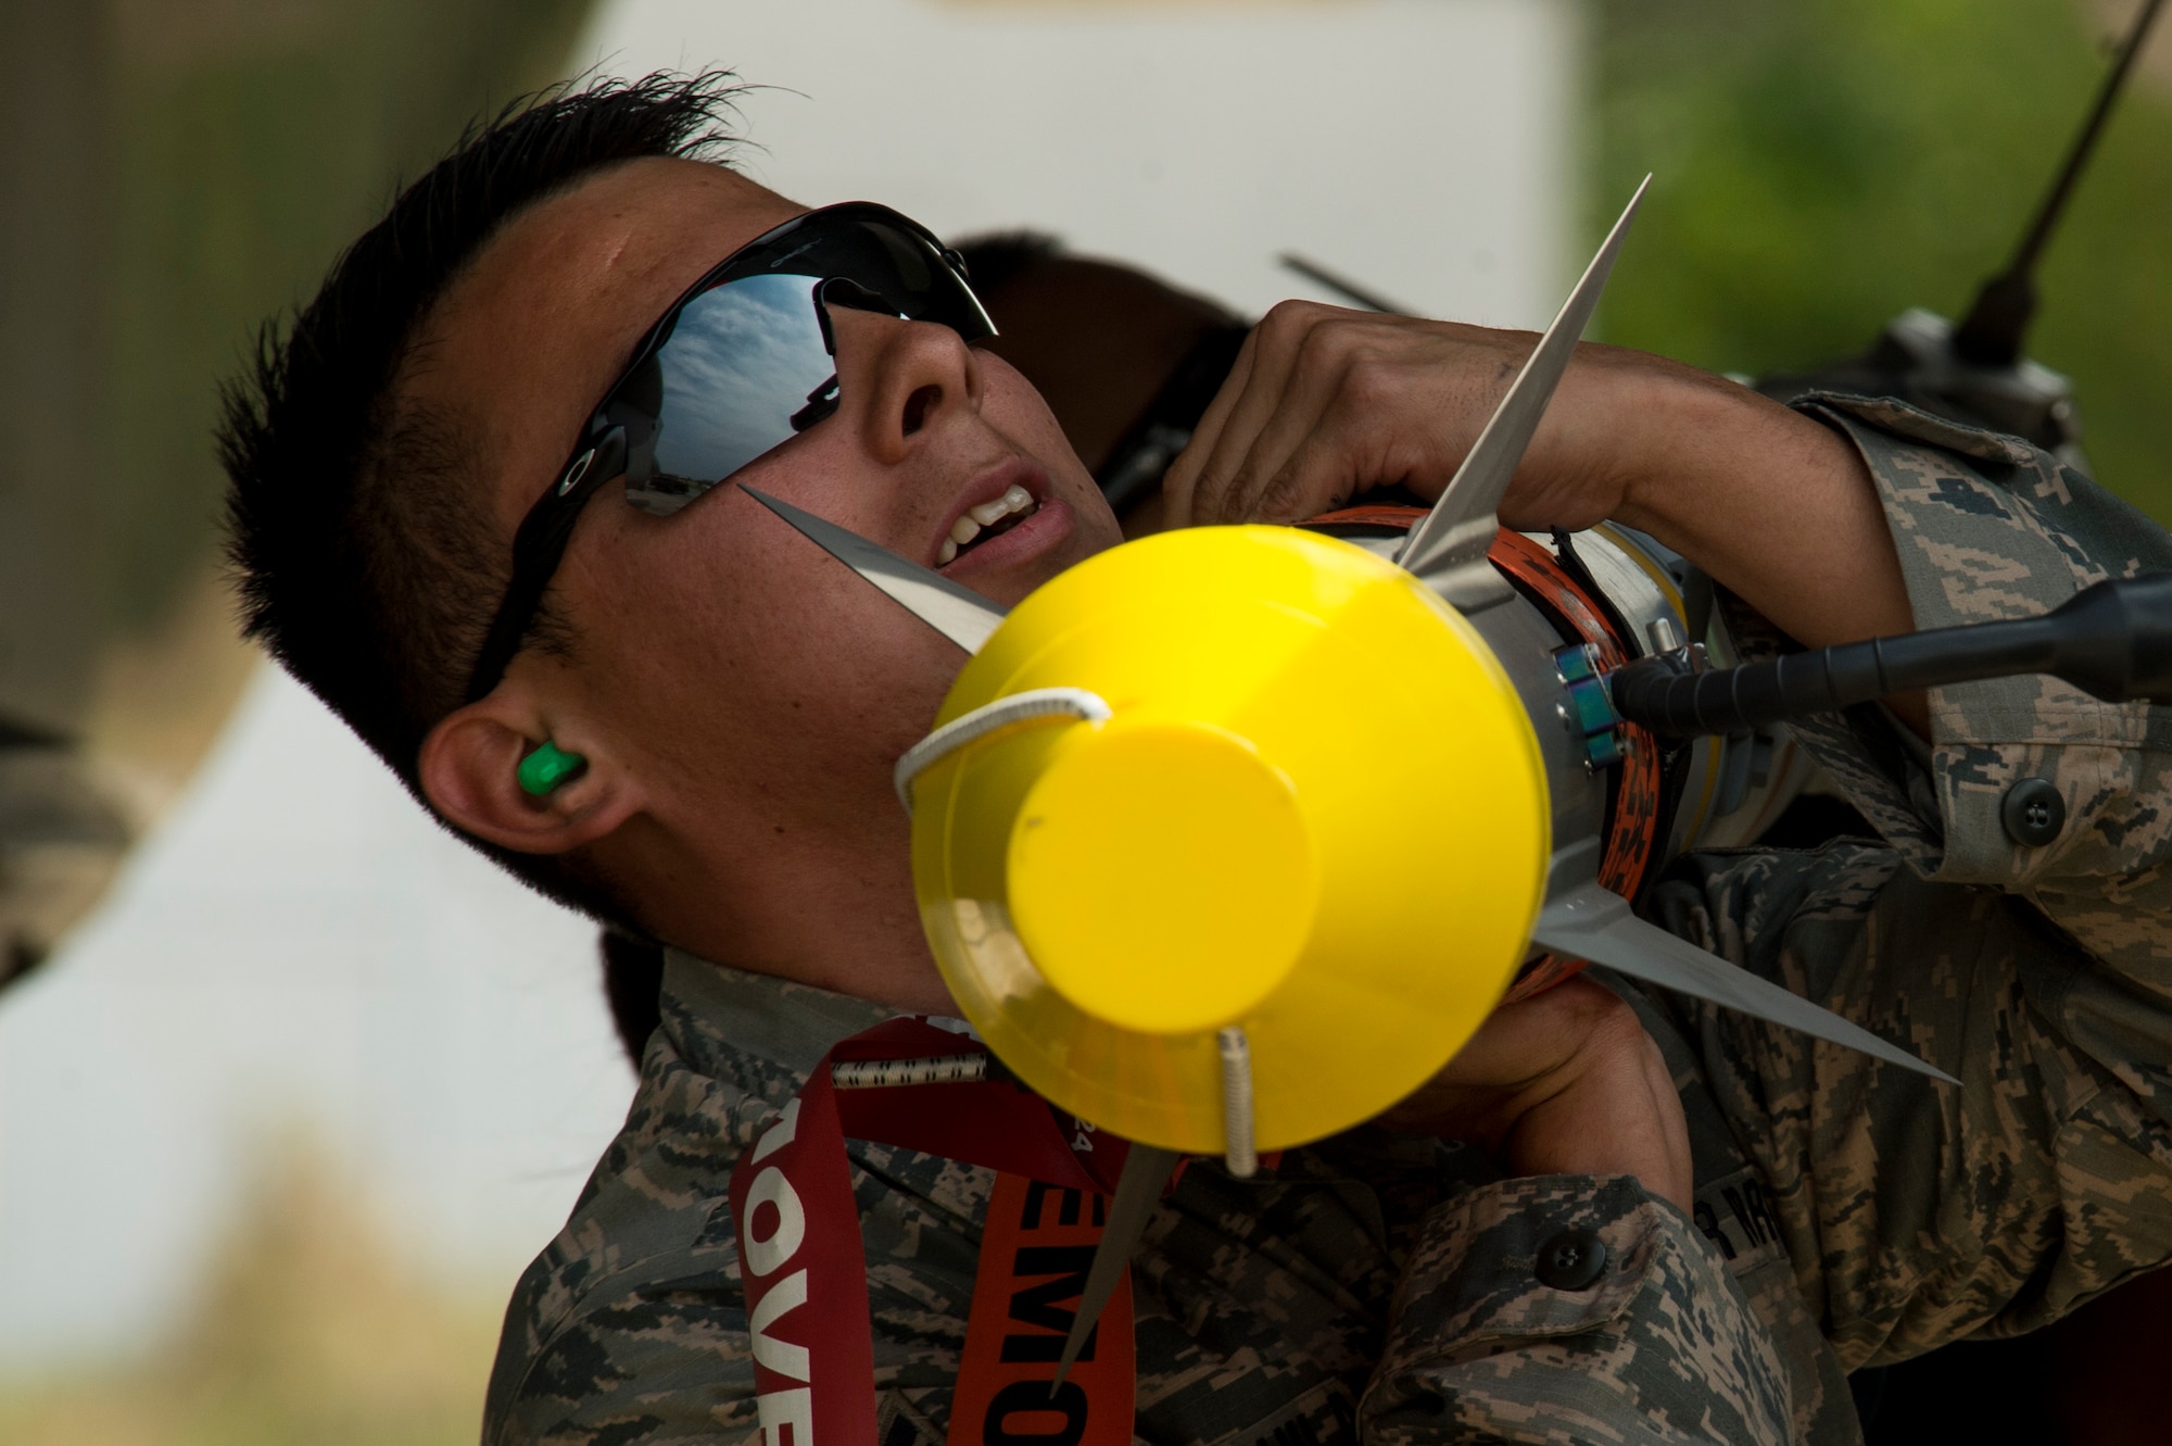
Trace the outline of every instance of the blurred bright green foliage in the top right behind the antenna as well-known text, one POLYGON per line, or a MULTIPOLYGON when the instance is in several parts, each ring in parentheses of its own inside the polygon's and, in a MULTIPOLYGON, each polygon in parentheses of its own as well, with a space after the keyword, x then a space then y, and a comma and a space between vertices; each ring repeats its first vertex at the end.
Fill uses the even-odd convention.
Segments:
MULTIPOLYGON (((2122 7, 2118 20, 2126 20, 2122 7)), ((2076 0, 1594 0, 1594 211, 1653 193, 1605 334, 1720 371, 1966 313, 2109 56, 2076 0)), ((1594 217, 1596 219, 1596 217, 1594 217)), ((2040 274, 2100 480, 2172 519, 2172 104, 2139 76, 2040 274)))

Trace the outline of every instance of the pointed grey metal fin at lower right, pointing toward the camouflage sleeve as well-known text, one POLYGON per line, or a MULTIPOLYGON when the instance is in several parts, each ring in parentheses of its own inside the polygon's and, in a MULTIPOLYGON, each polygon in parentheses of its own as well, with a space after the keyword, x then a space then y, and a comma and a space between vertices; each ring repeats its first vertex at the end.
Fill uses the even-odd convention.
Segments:
POLYGON ((1627 899, 1599 884, 1583 884, 1551 901, 1540 912, 1531 938, 1546 949, 1573 953, 1592 964, 1605 964, 1633 979, 1696 994, 1699 999, 1753 1014, 1772 1025, 1859 1049, 1874 1060, 1898 1064, 1918 1075, 1959 1083, 1953 1075, 1931 1068, 1861 1025, 1853 1025, 1831 1010, 1820 1010, 1807 999, 1790 994, 1716 953, 1705 953, 1696 944, 1644 923, 1629 912, 1627 899))

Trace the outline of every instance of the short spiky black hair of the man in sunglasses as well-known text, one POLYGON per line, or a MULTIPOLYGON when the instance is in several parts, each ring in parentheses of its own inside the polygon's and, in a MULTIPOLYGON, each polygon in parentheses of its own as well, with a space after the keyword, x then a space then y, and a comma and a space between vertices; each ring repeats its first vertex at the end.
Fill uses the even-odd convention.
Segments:
MULTIPOLYGON (((506 221, 626 161, 717 158, 736 93, 725 72, 652 74, 565 85, 471 124, 285 334, 278 321, 258 332, 222 393, 243 630, 426 808, 417 753, 463 701, 510 554, 489 523, 471 428, 402 399, 402 371, 432 306, 506 221)), ((536 640, 550 645, 550 632, 536 640)), ((469 842, 563 903, 619 912, 563 860, 469 842)))

